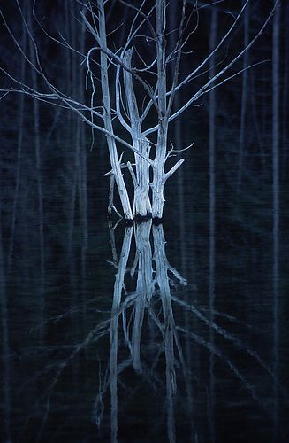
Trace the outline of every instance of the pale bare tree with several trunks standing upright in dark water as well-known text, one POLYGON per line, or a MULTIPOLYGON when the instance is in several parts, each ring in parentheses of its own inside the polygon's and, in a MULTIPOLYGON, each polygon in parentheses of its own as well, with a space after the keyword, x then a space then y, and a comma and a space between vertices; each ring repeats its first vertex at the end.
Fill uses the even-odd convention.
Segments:
MULTIPOLYGON (((167 0, 154 2, 142 0, 138 5, 125 0, 78 2, 80 26, 86 27, 89 35, 86 51, 73 47, 73 43, 67 42, 61 33, 59 39, 54 35, 49 35, 49 32, 42 27, 41 21, 37 19, 34 2, 34 18, 42 27, 43 32, 68 51, 79 53, 83 63, 86 64, 86 85, 90 93, 87 104, 80 96, 67 95, 63 89, 57 87, 55 82, 49 80, 42 66, 41 54, 34 40, 31 24, 27 23, 19 0, 16 0, 31 45, 34 47, 34 55, 31 53, 28 57, 22 50, 3 16, 4 24, 22 56, 34 69, 34 74, 38 75, 45 91, 42 92, 36 82, 30 86, 25 85, 21 80, 13 78, 11 74, 6 74, 11 77, 11 80, 18 82, 19 89, 14 88, 15 91, 70 109, 93 129, 106 136, 111 164, 110 209, 115 207, 112 201, 115 182, 126 220, 146 219, 151 216, 156 220, 161 220, 164 212, 165 183, 184 161, 184 159, 177 159, 174 164, 171 163, 171 156, 175 155, 176 151, 182 151, 182 147, 175 150, 174 147, 170 149, 168 146, 171 121, 179 118, 191 106, 199 105, 201 97, 209 91, 239 74, 236 72, 230 74, 230 69, 262 34, 277 4, 273 6, 268 18, 255 36, 250 41, 246 41, 245 46, 237 55, 218 64, 212 74, 211 60, 216 59, 218 51, 232 36, 249 1, 246 0, 243 3, 240 12, 232 19, 231 26, 221 40, 202 58, 202 61, 197 66, 192 66, 188 74, 182 75, 180 74, 181 62, 190 48, 189 43, 194 38, 194 32, 198 27, 198 2, 193 5, 188 4, 186 0, 179 2, 176 8, 178 18, 175 20, 177 27, 172 30, 168 25, 167 0), (125 27, 123 23, 118 23, 115 28, 110 28, 107 18, 111 15, 111 8, 119 4, 128 11, 128 23, 125 23, 125 27), (119 27, 122 27, 120 45, 116 43, 119 27), (125 31, 125 43, 123 43, 125 31), (174 41, 172 47, 166 44, 168 33, 174 35, 171 39, 174 41), (194 82, 195 78, 200 76, 203 79, 202 82, 194 82), (186 95, 183 96, 185 87, 186 95), (182 94, 182 99, 176 99, 180 94, 182 94), (127 135, 122 135, 123 130, 127 135), (134 153, 133 163, 129 153, 126 152, 126 157, 118 154, 120 145, 134 153), (167 167, 168 159, 170 159, 170 167, 167 167), (130 175, 124 175, 124 169, 128 169, 130 175), (129 196, 128 177, 131 177, 133 181, 133 198, 129 196)), ((202 5, 202 8, 205 6, 202 5)), ((240 73, 247 70, 247 67, 243 66, 240 73)), ((7 92, 7 89, 2 89, 2 91, 7 92)))

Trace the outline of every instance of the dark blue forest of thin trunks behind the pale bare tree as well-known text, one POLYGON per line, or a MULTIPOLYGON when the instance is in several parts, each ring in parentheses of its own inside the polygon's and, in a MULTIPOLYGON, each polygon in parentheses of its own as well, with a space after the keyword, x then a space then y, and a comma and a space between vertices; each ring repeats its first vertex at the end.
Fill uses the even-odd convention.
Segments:
MULTIPOLYGON (((189 2, 190 3, 190 2, 189 2)), ((191 2, 194 3, 194 2, 191 2)), ((199 4, 199 27, 190 40, 187 50, 192 53, 184 57, 180 77, 197 66, 209 52, 211 14, 217 10, 217 41, 237 15, 241 2, 224 1, 214 7, 204 7, 209 2, 199 4)), ((39 44, 42 66, 52 83, 63 90, 69 97, 89 100, 90 90, 86 90, 86 69, 83 58, 62 48, 45 35, 44 30, 52 37, 62 35, 72 47, 84 53, 91 47, 92 37, 87 35, 80 23, 80 5, 77 2, 41 2, 35 4, 35 11, 43 29, 32 15, 33 3, 22 2, 22 9, 27 24, 33 29, 35 41, 39 44)), ((218 52, 216 64, 224 63, 240 51, 244 42, 249 41, 262 27, 273 2, 255 1, 244 13, 243 19, 221 51, 218 52)), ((281 199, 285 201, 286 176, 288 172, 288 4, 278 6, 279 16, 279 54, 278 59, 278 157, 279 183, 281 199)), ((4 17, 11 32, 27 56, 34 60, 31 40, 27 36, 25 25, 19 14, 16 3, 4 2, 4 17)), ((128 11, 118 2, 110 2, 108 12, 108 30, 115 29, 119 21, 131 18, 128 11)), ((3 21, 3 20, 2 20, 3 21)), ((267 198, 266 191, 272 183, 272 109, 274 91, 272 86, 273 41, 272 23, 265 28, 261 37, 240 60, 233 66, 230 74, 266 60, 259 66, 252 67, 224 83, 216 89, 214 121, 216 126, 216 174, 220 194, 232 192, 225 204, 246 210, 246 200, 267 198), (247 192, 250 183, 250 192, 247 192), (252 188, 252 190, 251 190, 252 188), (263 193, 264 191, 265 193, 263 193), (245 205, 245 206, 244 206, 245 205)), ((192 26, 194 25, 194 19, 192 26)), ((125 27, 111 36, 113 44, 121 46, 125 38, 125 27)), ((44 90, 42 82, 34 74, 31 66, 21 56, 19 49, 12 42, 2 22, 1 30, 1 66, 19 82, 36 89, 44 90)), ((144 52, 149 51, 149 44, 142 45, 144 52)), ((205 77, 208 74, 205 74, 205 77)), ((1 73, 3 89, 19 89, 11 82, 9 76, 1 73)), ((182 102, 192 90, 202 85, 203 77, 194 82, 180 95, 182 102)), ((97 93, 97 92, 96 92, 97 93)), ((2 94, 4 96, 4 93, 2 94)), ((194 190, 195 201, 202 202, 208 198, 209 186, 209 95, 204 96, 198 107, 190 108, 171 126, 171 141, 184 148, 194 143, 194 147, 184 152, 185 165, 178 172, 178 179, 169 184, 167 195, 168 208, 171 206, 179 213, 179 205, 193 207, 194 202, 180 203, 181 197, 170 198, 181 182, 188 189, 194 190), (187 174, 187 171, 190 173, 187 174), (184 178, 186 177, 186 179, 184 178), (201 185, 199 184, 201 180, 201 185), (184 183, 186 181, 186 183, 184 183)), ((29 218, 35 213, 44 225, 53 223, 49 218, 72 222, 74 215, 87 218, 87 212, 95 213, 95 205, 105 211, 105 196, 108 193, 108 179, 103 174, 109 170, 107 151, 103 136, 94 134, 78 118, 61 107, 34 102, 31 97, 20 93, 10 93, 1 102, 1 195, 2 223, 4 237, 13 237, 11 229, 19 228, 19 221, 29 225, 29 218), (63 199, 62 211, 53 214, 50 208, 54 199, 63 199), (87 203, 89 202, 89 204, 87 203), (97 203, 96 203, 97 202, 97 203), (62 214, 61 214, 62 212, 62 214), (17 216, 16 216, 17 213, 17 216), (17 220, 16 220, 17 219, 17 220)), ((121 128, 119 128, 121 131, 121 128)), ((182 192, 183 193, 183 192, 182 192)), ((250 203, 250 202, 249 202, 250 203)), ((250 205, 255 206, 255 205, 250 205)), ((255 206, 256 207, 256 206, 255 206)), ((169 210, 169 209, 167 209, 169 210)), ((173 215, 176 219, 176 214, 173 215)), ((37 217, 36 217, 37 219, 37 217)), ((83 220, 85 223, 86 221, 83 220)), ((39 224, 39 222, 37 222, 39 224)), ((253 228, 249 220, 244 229, 253 228)), ((22 226, 23 228, 23 226, 22 226)), ((23 229, 21 228, 21 231, 23 229)), ((242 228, 242 227, 241 227, 242 228)), ((25 229, 24 229, 25 230, 25 229)), ((36 235, 34 229, 33 235, 36 235)), ((6 245, 11 247, 11 245, 6 245)))

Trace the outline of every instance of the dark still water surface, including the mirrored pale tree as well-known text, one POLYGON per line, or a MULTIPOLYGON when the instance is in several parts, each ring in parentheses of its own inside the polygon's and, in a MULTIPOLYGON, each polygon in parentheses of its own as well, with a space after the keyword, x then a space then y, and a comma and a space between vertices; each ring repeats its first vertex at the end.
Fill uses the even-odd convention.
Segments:
POLYGON ((91 191, 72 227, 56 193, 8 274, 3 227, 2 441, 288 441, 287 215, 274 252, 270 188, 220 186, 210 235, 188 167, 175 185, 164 226, 113 229, 91 191))

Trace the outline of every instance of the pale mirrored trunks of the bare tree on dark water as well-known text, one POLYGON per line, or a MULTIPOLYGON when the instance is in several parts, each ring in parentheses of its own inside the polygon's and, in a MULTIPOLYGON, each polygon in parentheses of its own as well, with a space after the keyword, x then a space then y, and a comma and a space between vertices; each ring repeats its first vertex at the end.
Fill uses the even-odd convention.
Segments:
MULTIPOLYGON (((110 228, 111 233, 112 255, 116 262, 117 253, 113 232, 110 228)), ((147 221, 135 225, 134 228, 126 228, 118 260, 110 323, 111 441, 117 441, 118 439, 118 373, 120 372, 119 367, 123 367, 123 362, 118 361, 118 325, 120 317, 122 317, 123 335, 129 350, 131 364, 133 369, 142 373, 144 369, 141 364, 141 331, 146 314, 161 334, 158 347, 164 349, 167 433, 169 441, 175 441, 174 397, 177 390, 175 349, 177 349, 179 359, 183 369, 185 369, 171 306, 171 286, 173 287, 176 284, 186 285, 186 280, 179 275, 176 269, 171 267, 166 258, 163 225, 152 226, 152 222, 147 221), (133 235, 136 251, 133 264, 128 267, 133 235), (150 243, 151 235, 153 248, 150 243), (132 281, 135 281, 136 287, 135 291, 129 295, 129 299, 133 299, 133 303, 121 308, 122 294, 126 293, 125 274, 132 281), (161 301, 161 309, 158 308, 157 311, 151 303, 153 297, 157 297, 161 301)), ((158 352, 153 362, 155 368, 159 358, 160 353, 158 352)), ((154 369, 151 368, 151 370, 154 369)), ((152 377, 152 374, 149 377, 152 377)), ((95 410, 99 408, 97 402, 100 402, 102 397, 101 394, 98 396, 95 410)), ((99 423, 99 420, 97 421, 99 423)))

